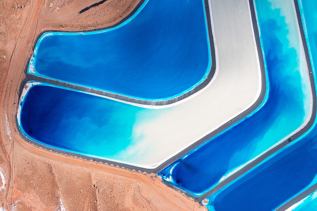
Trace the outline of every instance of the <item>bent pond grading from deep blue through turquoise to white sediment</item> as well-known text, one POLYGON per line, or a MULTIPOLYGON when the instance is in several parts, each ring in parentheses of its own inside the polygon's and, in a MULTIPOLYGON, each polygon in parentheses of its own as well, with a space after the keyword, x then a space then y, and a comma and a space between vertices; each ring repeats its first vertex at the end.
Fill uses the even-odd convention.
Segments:
POLYGON ((196 95, 174 106, 150 109, 43 83, 22 94, 21 131, 44 146, 145 170, 175 161, 179 153, 188 152, 183 150, 222 131, 221 125, 229 120, 233 124, 250 113, 249 108, 253 111, 266 90, 248 2, 235 5, 230 16, 224 15, 225 4, 209 5, 216 11, 217 76, 196 95), (40 93, 43 101, 36 97, 40 93))

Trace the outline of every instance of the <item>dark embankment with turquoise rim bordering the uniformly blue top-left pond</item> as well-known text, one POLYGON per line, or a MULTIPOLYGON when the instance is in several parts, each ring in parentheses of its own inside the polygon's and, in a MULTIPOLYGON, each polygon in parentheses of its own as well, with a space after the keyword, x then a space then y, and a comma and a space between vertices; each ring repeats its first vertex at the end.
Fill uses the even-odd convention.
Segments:
MULTIPOLYGON (((119 26, 120 24, 123 24, 124 22, 128 21, 130 18, 132 18, 136 12, 141 8, 144 7, 145 4, 147 3, 148 0, 141 0, 137 6, 131 11, 131 13, 129 13, 126 17, 124 17, 121 21, 109 26, 109 27, 103 27, 103 28, 98 28, 98 29, 89 29, 89 30, 76 30, 76 31, 64 31, 64 30, 45 30, 42 31, 37 37, 36 40, 34 41, 33 44, 33 50, 34 53, 36 54, 36 49, 37 49, 37 44, 41 43, 41 40, 45 37, 45 33, 49 33, 49 32, 66 32, 66 33, 84 33, 84 32, 95 32, 95 33, 99 33, 98 31, 101 32, 101 30, 105 30, 105 29, 112 29, 115 28, 117 26, 119 26), (42 36, 44 35, 44 36, 42 36)), ((107 98, 110 99, 115 99, 118 101, 122 101, 122 102, 126 102, 129 104, 139 104, 139 106, 142 105, 170 105, 173 103, 176 103, 180 100, 183 100, 185 98, 190 97, 191 95, 201 91, 203 88, 205 88, 208 84, 210 84, 210 82, 212 82, 212 80, 214 79, 214 76, 216 76, 216 52, 215 52, 215 46, 214 46, 214 42, 213 42, 213 33, 212 33, 212 25, 211 25, 211 19, 210 19, 210 11, 209 11, 209 4, 208 4, 208 0, 203 0, 204 2, 204 8, 205 8, 205 24, 206 24, 206 30, 208 33, 208 38, 209 38, 209 53, 210 53, 210 59, 211 59, 211 67, 210 70, 206 70, 206 73, 204 74, 204 78, 202 78, 200 81, 198 81, 195 85, 193 85, 191 88, 184 90, 182 93, 179 93, 179 95, 174 95, 171 96, 170 98, 166 98, 166 99, 141 99, 141 98, 135 98, 132 96, 126 96, 120 93, 113 93, 113 92, 109 92, 109 91, 104 91, 104 90, 99 90, 93 87, 86 87, 83 85, 78 85, 78 84, 74 84, 74 83, 68 83, 65 81, 61 81, 61 80, 55 80, 55 79, 51 79, 51 78, 47 78, 47 77, 43 77, 43 76, 39 76, 39 75, 34 75, 30 72, 29 67, 32 65, 35 65, 35 60, 33 58, 33 54, 31 56, 31 58, 28 60, 27 63, 27 71, 26 71, 26 75, 28 80, 27 81, 43 81, 43 82, 47 82, 47 83, 51 83, 51 84, 55 84, 58 86, 65 86, 68 88, 72 88, 72 89, 76 89, 76 90, 80 90, 80 91, 85 91, 85 92, 91 92, 94 94, 98 94, 98 95, 103 95, 107 98)), ((142 9, 142 8, 141 8, 142 9)), ((49 35, 49 34, 48 34, 49 35)), ((210 65, 209 65, 210 66, 210 65)), ((261 75, 263 73, 261 72, 261 75)), ((263 88, 263 87, 262 87, 263 88)))

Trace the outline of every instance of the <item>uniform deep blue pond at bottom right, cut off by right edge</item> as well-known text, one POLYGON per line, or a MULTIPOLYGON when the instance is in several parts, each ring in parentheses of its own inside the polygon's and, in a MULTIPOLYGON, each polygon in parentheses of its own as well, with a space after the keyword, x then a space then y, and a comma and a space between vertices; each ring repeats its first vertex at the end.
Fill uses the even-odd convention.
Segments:
POLYGON ((298 140, 227 188, 211 195, 209 210, 275 210, 317 182, 317 138, 298 140))

